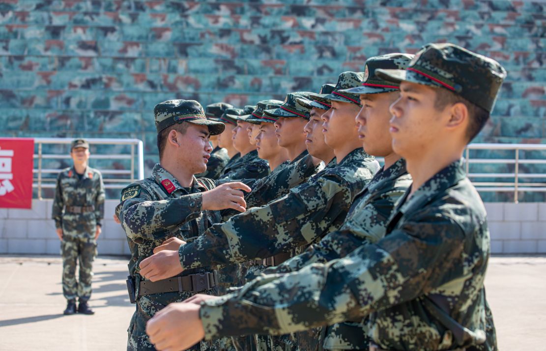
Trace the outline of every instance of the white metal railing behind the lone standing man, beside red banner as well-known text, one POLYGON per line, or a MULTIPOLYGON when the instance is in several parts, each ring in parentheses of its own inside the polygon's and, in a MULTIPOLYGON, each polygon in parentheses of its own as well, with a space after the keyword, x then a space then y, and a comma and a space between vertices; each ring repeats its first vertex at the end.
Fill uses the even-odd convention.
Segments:
MULTIPOLYGON (((74 138, 34 138, 34 148, 38 148, 38 152, 34 154, 34 159, 38 161, 38 167, 34 168, 32 187, 38 189, 38 198, 42 198, 42 189, 54 189, 56 186, 55 178, 44 178, 43 174, 57 174, 61 169, 43 168, 43 160, 46 159, 70 159, 68 153, 65 154, 44 154, 44 144, 70 144, 74 138)), ((129 170, 112 170, 97 168, 103 174, 103 183, 105 189, 123 189, 130 183, 135 181, 135 171, 138 172, 138 179, 144 179, 144 146, 139 139, 115 139, 115 138, 86 138, 90 146, 92 145, 127 145, 130 147, 130 152, 127 154, 98 154, 91 153, 90 159, 108 159, 108 160, 130 160, 129 170), (136 150, 135 150, 136 148, 136 150), (136 165, 135 165, 136 159, 136 165), (118 176, 118 177, 110 177, 118 176), (119 177, 126 176, 126 177, 119 177)))

